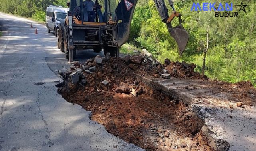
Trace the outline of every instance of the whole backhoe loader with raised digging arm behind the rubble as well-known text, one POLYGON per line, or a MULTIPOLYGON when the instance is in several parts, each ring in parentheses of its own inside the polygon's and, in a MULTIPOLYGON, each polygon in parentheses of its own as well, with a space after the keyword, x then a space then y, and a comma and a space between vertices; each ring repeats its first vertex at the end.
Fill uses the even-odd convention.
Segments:
MULTIPOLYGON (((95 0, 93 12, 87 10, 86 4, 91 0, 70 0, 67 4, 69 12, 60 22, 58 31, 58 48, 65 52, 69 62, 77 48, 93 48, 104 54, 119 56, 119 48, 129 38, 131 20, 137 0, 95 0)), ((166 23, 168 31, 177 42, 179 54, 189 40, 189 34, 181 25, 181 14, 175 11, 173 1, 168 0, 173 13, 169 16, 164 0, 154 0, 161 19, 166 23), (173 27, 171 21, 179 17, 179 25, 173 27)))

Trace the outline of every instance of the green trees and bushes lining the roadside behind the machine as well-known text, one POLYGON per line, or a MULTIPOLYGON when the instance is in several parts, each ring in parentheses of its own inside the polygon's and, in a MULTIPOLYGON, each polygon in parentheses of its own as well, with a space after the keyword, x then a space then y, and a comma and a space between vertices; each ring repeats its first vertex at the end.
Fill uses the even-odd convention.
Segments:
MULTIPOLYGON (((122 46, 121 52, 132 54, 134 48, 145 48, 161 62, 169 58, 172 61, 184 60, 197 64, 196 71, 212 79, 251 81, 256 85, 255 0, 243 1, 247 5, 246 13, 240 11, 238 17, 215 17, 213 11, 191 12, 193 2, 194 0, 175 0, 175 8, 183 14, 183 27, 190 35, 182 57, 162 23, 153 0, 138 1, 129 41, 122 46)), ((241 1, 232 2, 234 12, 238 12, 240 7, 235 5, 240 5, 241 1)), ((50 4, 65 7, 66 0, 0 0, 0 11, 44 21, 46 7, 50 4)), ((178 25, 177 19, 173 21, 173 26, 175 25, 178 25)))

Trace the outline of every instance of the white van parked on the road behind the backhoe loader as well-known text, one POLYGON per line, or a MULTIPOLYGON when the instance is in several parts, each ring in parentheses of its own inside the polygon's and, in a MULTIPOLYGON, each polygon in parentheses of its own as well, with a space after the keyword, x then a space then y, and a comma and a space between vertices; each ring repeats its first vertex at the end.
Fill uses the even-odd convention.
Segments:
POLYGON ((57 23, 60 23, 60 19, 65 19, 67 11, 69 11, 69 8, 63 8, 62 6, 50 5, 46 8, 46 27, 48 33, 54 31, 54 35, 57 37, 57 30, 59 29, 57 23))

